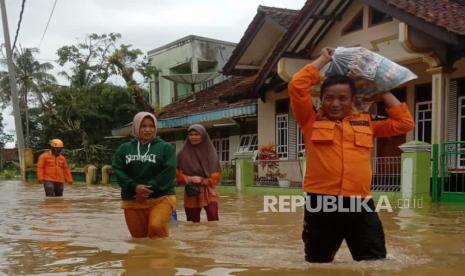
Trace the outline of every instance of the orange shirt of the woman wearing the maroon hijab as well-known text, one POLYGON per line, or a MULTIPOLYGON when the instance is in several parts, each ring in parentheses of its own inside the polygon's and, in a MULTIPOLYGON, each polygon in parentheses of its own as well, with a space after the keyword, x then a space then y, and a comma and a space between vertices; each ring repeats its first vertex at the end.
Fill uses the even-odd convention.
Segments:
MULTIPOLYGON (((184 207, 185 208, 203 208, 210 202, 218 202, 218 191, 216 184, 220 181, 221 173, 212 173, 207 179, 208 185, 200 186, 200 195, 189 197, 184 192, 184 207)), ((186 184, 186 176, 181 170, 176 170, 176 182, 186 184)))

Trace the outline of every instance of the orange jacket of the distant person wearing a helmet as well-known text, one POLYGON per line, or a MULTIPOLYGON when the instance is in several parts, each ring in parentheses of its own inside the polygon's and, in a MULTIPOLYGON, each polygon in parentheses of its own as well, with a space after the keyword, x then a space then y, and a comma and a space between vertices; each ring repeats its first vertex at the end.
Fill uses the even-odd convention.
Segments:
POLYGON ((73 176, 63 155, 55 156, 46 151, 39 157, 37 163, 37 179, 39 181, 73 182, 73 176))

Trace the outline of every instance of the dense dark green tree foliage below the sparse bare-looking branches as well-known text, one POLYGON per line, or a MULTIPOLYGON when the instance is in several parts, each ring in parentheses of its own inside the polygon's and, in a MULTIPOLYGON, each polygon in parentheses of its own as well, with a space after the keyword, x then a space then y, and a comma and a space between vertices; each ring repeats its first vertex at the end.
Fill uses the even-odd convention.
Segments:
POLYGON ((130 122, 138 109, 124 87, 97 84, 87 87, 62 87, 53 92, 50 104, 54 115, 31 119, 39 125, 41 145, 60 137, 65 147, 73 149, 73 161, 110 162, 114 145, 106 136, 111 130, 130 122))

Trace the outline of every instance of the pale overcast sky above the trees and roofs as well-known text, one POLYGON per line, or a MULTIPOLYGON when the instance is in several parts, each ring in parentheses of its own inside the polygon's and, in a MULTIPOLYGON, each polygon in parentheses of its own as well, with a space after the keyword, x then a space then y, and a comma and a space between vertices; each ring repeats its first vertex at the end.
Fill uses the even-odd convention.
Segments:
MULTIPOLYGON (((13 43, 22 0, 6 0, 13 43)), ((38 47, 55 0, 27 0, 18 36, 22 47, 38 47)), ((300 9, 305 0, 57 0, 39 59, 91 33, 121 33, 121 43, 147 52, 187 35, 238 42, 259 5, 300 9)), ((0 41, 4 42, 3 28, 0 41)), ((6 113, 6 114, 5 114, 6 113)), ((11 111, 6 131, 14 131, 11 111)))

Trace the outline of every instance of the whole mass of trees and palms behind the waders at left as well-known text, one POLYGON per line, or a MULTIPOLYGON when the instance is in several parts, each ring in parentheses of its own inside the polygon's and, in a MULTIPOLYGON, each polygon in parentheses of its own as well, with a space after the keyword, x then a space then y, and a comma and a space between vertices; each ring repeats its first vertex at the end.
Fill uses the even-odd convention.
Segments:
MULTIPOLYGON (((53 66, 35 59, 36 49, 15 52, 21 115, 31 147, 47 149, 50 139, 60 138, 74 165, 108 164, 121 140, 105 137, 138 111, 153 111, 147 91, 136 81, 136 74, 147 80, 153 69, 141 50, 117 46, 120 38, 118 33, 91 34, 59 48, 57 62, 64 68, 59 75, 68 85, 57 84, 53 66), (121 76, 125 86, 110 84, 112 76, 121 76)), ((11 101, 7 72, 0 72, 0 82, 4 107, 11 101)))

